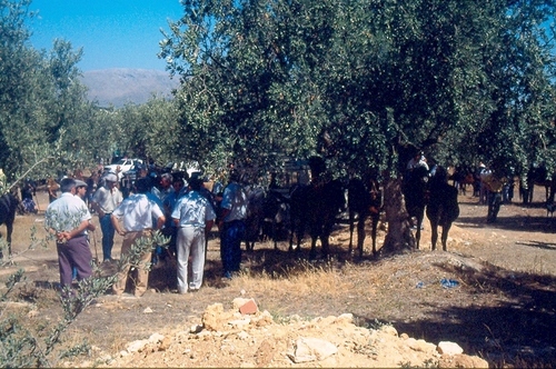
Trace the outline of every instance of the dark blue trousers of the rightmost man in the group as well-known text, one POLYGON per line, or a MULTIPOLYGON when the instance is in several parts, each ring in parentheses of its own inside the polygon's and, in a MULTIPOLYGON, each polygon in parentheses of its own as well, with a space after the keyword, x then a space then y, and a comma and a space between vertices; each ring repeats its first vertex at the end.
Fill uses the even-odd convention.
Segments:
POLYGON ((245 222, 232 220, 224 223, 220 233, 220 257, 222 259, 224 271, 239 271, 241 263, 241 240, 245 236, 245 222))

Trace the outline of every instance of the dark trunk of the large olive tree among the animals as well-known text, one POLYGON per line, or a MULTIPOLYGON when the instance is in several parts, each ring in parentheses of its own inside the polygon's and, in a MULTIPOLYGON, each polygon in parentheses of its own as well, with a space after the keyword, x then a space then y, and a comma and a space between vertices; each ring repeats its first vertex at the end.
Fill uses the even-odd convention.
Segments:
POLYGON ((415 249, 416 240, 401 195, 401 179, 390 178, 385 181, 384 208, 388 222, 388 233, 380 253, 391 255, 415 249))

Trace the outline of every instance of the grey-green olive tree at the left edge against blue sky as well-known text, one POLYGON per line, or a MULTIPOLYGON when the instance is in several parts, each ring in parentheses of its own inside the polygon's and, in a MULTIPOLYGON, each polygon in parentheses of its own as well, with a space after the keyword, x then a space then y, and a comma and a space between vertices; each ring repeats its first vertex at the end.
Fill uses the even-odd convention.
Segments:
POLYGON ((30 47, 30 4, 0 1, 0 168, 10 181, 44 178, 91 157, 81 144, 88 131, 77 129, 93 114, 78 79, 82 52, 63 40, 50 52, 30 47))

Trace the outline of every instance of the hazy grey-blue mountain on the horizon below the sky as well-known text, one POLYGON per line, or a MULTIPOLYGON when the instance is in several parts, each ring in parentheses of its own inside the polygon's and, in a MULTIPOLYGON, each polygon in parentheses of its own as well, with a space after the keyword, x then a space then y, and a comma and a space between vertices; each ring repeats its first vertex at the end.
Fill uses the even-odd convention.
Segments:
POLYGON ((101 69, 83 72, 82 82, 89 88, 89 99, 101 107, 125 103, 143 103, 152 94, 171 97, 171 90, 179 86, 179 78, 151 69, 101 69))

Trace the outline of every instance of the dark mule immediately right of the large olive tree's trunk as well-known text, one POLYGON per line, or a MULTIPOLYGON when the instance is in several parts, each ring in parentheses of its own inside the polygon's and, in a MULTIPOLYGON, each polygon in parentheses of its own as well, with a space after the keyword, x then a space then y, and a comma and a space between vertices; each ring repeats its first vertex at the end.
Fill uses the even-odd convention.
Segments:
POLYGON ((406 200, 406 210, 409 215, 409 220, 416 219, 414 226, 417 228, 415 240, 417 241, 417 249, 419 248, 420 230, 423 219, 425 218, 425 207, 428 201, 428 181, 429 172, 425 167, 417 167, 406 172, 403 183, 403 192, 406 200))

